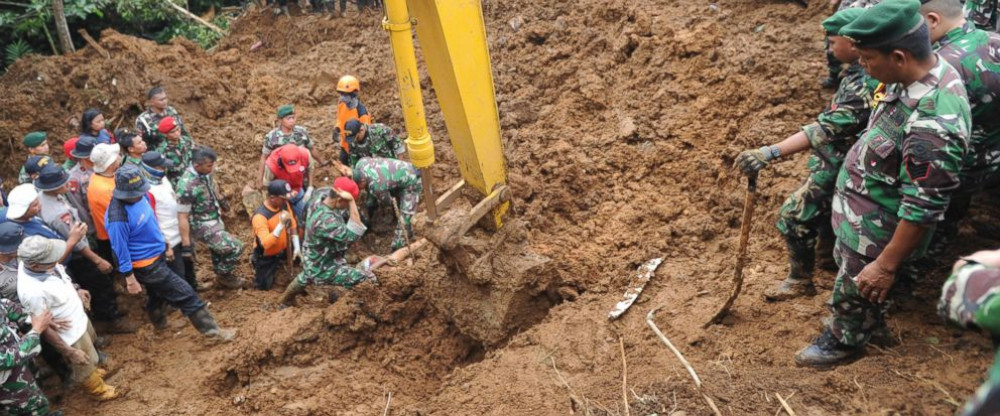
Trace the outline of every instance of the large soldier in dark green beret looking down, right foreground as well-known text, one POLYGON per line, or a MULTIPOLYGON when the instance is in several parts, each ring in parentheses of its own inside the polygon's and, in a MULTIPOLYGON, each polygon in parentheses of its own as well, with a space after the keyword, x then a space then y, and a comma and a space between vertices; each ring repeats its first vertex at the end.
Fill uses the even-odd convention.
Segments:
POLYGON ((872 333, 885 326, 896 271, 923 255, 958 189, 971 123, 968 98, 958 71, 930 50, 919 8, 917 0, 880 3, 840 31, 855 41, 869 74, 886 83, 886 96, 837 177, 832 224, 840 271, 830 300, 833 318, 796 354, 799 365, 828 367, 864 352, 872 333))

